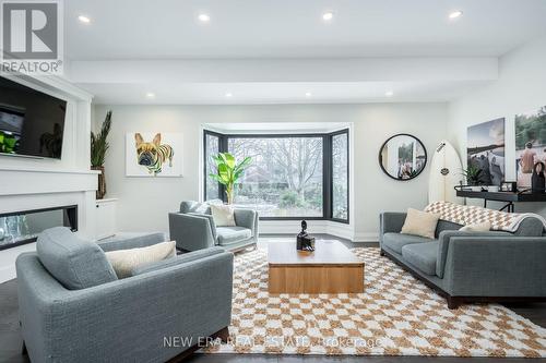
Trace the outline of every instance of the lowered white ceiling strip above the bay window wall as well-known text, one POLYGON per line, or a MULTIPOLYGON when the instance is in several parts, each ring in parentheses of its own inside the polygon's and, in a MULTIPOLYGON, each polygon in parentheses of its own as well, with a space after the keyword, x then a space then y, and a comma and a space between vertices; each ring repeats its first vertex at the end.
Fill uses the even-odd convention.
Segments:
POLYGON ((485 81, 450 82, 318 82, 318 83, 182 83, 86 84, 96 104, 163 105, 268 105, 446 101, 486 84, 485 81), (153 89, 155 98, 143 89, 153 89), (385 89, 395 89, 387 97, 385 89), (225 94, 230 93, 232 97, 225 94), (310 96, 306 96, 310 93, 310 96), (136 100, 136 101, 135 101, 136 100))

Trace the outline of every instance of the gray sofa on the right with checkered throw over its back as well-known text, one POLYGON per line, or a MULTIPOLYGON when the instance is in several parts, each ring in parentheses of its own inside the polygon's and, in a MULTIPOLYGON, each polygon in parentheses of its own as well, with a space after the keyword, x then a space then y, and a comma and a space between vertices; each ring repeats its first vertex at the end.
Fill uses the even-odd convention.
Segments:
POLYGON ((387 255, 448 300, 465 302, 546 301, 546 237, 537 218, 515 233, 458 231, 440 220, 436 239, 401 234, 405 213, 380 216, 381 255, 387 255))

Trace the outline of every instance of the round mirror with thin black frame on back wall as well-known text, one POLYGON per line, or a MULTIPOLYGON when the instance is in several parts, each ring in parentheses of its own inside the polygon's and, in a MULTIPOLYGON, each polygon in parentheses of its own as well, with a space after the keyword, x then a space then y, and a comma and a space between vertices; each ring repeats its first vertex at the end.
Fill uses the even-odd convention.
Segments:
POLYGON ((389 137, 379 150, 379 165, 396 180, 412 180, 427 165, 427 149, 415 136, 397 134, 389 137))

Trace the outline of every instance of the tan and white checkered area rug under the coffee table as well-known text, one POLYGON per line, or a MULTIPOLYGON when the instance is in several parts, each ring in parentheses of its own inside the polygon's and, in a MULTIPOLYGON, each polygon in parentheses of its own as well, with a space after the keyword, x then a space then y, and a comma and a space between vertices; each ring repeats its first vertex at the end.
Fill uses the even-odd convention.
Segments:
POLYGON ((230 338, 203 353, 546 356, 546 329, 498 304, 449 310, 446 299, 379 249, 365 262, 365 292, 268 293, 266 251, 235 256, 230 338))

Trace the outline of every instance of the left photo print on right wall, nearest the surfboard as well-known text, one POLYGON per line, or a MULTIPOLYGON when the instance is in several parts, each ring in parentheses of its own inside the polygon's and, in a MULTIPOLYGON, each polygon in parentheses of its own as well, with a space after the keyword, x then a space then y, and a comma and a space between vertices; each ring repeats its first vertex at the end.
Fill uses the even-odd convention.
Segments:
POLYGON ((482 170, 482 185, 505 180, 505 118, 472 125, 467 130, 466 165, 482 170))

